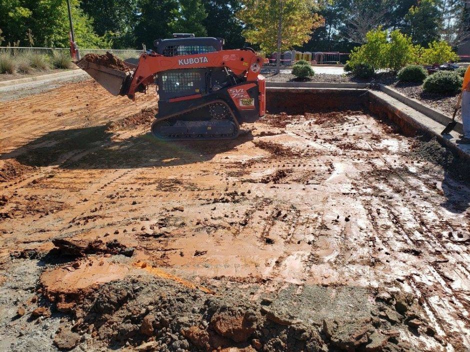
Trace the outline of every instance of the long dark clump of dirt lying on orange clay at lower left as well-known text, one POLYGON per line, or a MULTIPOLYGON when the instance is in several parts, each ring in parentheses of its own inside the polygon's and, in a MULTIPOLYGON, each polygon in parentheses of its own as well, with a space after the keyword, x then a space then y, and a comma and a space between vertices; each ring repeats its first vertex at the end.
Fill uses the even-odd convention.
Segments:
POLYGON ((131 257, 134 248, 126 247, 117 240, 104 243, 101 240, 81 240, 56 238, 52 240, 53 245, 57 248, 61 255, 82 257, 87 254, 123 254, 131 257))

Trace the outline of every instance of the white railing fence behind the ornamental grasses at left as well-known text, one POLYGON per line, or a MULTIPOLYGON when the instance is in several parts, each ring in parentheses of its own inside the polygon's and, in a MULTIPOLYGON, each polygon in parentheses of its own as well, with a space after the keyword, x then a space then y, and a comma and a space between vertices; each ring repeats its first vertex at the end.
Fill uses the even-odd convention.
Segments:
MULTIPOLYGON (((121 57, 139 57, 143 52, 142 50, 133 50, 133 49, 82 49, 78 48, 80 55, 83 57, 88 53, 94 54, 105 54, 107 51, 110 53, 121 57)), ((51 55, 53 51, 62 51, 64 53, 70 54, 69 48, 60 48, 60 47, 13 47, 13 46, 0 46, 0 52, 6 52, 10 55, 17 56, 23 54, 40 54, 40 55, 51 55)))

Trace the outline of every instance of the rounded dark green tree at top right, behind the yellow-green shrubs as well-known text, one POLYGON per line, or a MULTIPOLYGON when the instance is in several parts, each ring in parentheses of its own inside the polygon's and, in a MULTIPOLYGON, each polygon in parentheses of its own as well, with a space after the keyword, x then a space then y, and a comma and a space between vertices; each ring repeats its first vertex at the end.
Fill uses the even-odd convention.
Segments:
POLYGON ((425 46, 439 38, 442 16, 434 0, 421 0, 418 6, 411 6, 404 19, 403 32, 411 36, 413 43, 425 46))

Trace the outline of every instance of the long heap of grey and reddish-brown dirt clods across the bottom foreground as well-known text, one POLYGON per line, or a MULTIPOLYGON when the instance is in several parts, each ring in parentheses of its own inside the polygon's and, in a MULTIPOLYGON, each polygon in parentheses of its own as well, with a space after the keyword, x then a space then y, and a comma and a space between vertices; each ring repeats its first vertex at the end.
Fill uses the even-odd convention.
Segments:
POLYGON ((68 310, 76 324, 57 334, 56 345, 66 349, 91 334, 108 348, 137 351, 398 352, 408 346, 397 329, 429 330, 409 294, 306 287, 295 297, 292 290, 298 289, 250 302, 246 290, 213 295, 168 280, 126 277, 76 296, 68 310))

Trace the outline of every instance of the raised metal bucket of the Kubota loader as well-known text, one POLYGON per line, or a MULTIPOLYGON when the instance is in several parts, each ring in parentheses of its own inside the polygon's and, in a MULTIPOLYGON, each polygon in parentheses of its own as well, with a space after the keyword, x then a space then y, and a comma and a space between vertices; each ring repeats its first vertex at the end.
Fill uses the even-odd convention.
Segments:
POLYGON ((125 95, 127 93, 128 85, 126 83, 130 81, 132 72, 119 71, 86 60, 80 60, 76 65, 93 77, 112 95, 125 95))

